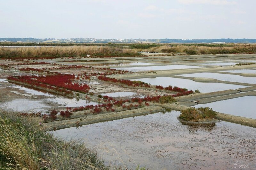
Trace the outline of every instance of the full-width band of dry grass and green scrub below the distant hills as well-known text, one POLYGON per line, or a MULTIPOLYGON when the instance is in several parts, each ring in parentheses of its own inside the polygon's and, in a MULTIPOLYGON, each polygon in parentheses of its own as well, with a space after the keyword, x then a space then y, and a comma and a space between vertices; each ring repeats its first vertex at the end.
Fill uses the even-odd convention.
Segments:
MULTIPOLYGON (((52 43, 53 45, 54 43, 52 43)), ((256 44, 80 44, 56 47, 0 47, 0 58, 34 57, 129 57, 140 56, 138 52, 177 54, 239 54, 255 53, 256 44)), ((69 44, 72 45, 72 44, 69 44)))

